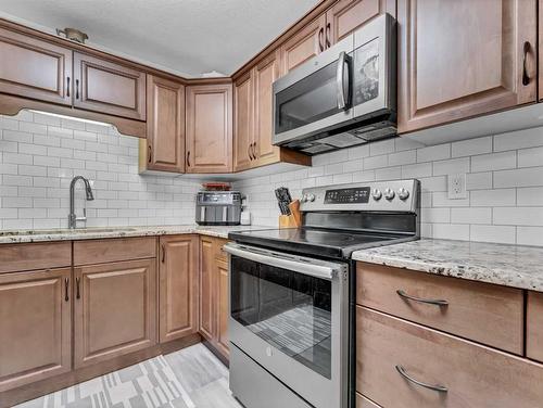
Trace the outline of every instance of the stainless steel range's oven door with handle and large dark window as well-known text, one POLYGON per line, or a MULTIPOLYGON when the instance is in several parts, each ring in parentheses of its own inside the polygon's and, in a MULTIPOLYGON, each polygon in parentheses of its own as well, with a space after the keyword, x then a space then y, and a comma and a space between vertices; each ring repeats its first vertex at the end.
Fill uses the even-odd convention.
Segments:
POLYGON ((346 265, 232 243, 225 250, 230 341, 312 406, 346 407, 346 265))

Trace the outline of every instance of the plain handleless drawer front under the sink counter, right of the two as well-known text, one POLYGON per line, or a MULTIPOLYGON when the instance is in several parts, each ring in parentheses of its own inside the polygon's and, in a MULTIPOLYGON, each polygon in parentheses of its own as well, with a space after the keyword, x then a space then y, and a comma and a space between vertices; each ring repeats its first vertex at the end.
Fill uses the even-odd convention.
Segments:
POLYGON ((154 237, 114 238, 74 242, 74 265, 92 265, 118 260, 154 258, 154 237))

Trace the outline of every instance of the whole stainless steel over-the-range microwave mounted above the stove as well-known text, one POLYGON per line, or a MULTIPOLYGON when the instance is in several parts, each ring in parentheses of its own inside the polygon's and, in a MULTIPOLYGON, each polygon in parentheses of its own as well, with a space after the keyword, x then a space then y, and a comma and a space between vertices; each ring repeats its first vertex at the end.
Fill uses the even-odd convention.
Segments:
POLYGON ((274 82, 274 144, 318 154, 396 135, 395 28, 381 15, 274 82))

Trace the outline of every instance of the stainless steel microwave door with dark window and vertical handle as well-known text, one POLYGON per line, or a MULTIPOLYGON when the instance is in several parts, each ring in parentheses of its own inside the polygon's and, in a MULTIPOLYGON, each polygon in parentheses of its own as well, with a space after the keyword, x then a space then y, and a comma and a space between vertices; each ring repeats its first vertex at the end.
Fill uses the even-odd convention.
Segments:
POLYGON ((354 117, 354 35, 274 82, 274 144, 319 133, 354 117))

